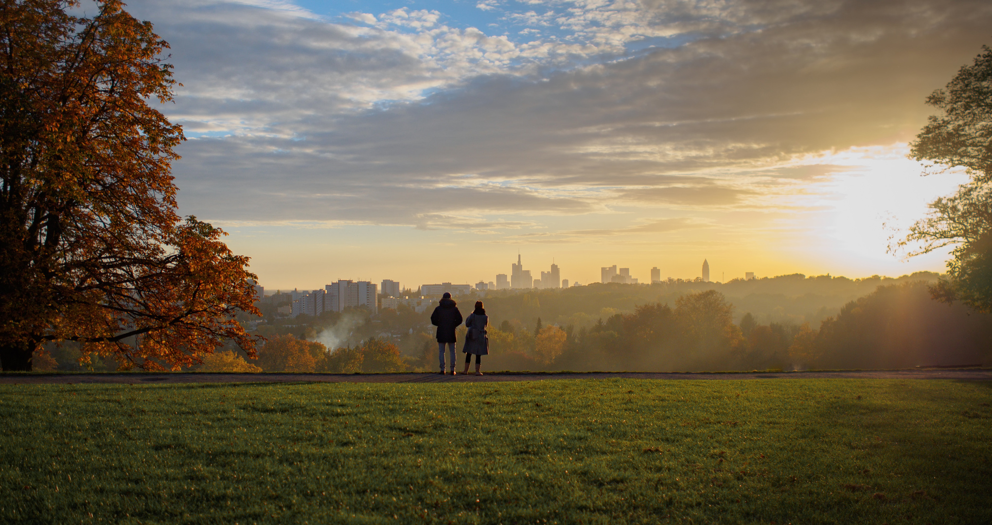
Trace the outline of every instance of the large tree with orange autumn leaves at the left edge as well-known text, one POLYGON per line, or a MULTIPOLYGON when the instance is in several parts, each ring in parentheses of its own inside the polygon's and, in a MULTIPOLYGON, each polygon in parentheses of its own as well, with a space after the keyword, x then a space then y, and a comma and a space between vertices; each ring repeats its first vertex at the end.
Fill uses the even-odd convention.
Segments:
POLYGON ((62 340, 125 368, 195 364, 227 340, 253 356, 234 319, 259 314, 248 258, 178 215, 185 138, 147 103, 172 100, 169 45, 117 0, 91 18, 76 5, 0 0, 3 369, 62 340))

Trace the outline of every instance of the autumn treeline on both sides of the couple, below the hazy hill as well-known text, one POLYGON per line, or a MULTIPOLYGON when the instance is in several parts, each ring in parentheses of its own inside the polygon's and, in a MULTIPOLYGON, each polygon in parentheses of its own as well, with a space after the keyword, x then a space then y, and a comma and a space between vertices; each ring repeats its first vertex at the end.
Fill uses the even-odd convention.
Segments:
MULTIPOLYGON (((604 286, 598 294, 629 294, 631 290, 623 286, 604 286)), ((563 295, 535 296, 554 305, 548 298, 563 295)), ((535 308, 535 296, 519 294, 503 299, 504 303, 519 302, 515 312, 519 315, 526 314, 528 307, 535 308)), ((530 324, 517 317, 500 321, 499 316, 506 316, 508 309, 490 298, 486 307, 493 324, 484 369, 793 370, 992 362, 992 316, 931 300, 927 281, 877 286, 821 323, 796 324, 789 319, 763 323, 750 312, 735 314, 735 305, 713 288, 689 289, 665 297, 673 299, 633 304, 630 312, 610 307, 605 311, 609 315, 582 325, 546 323, 540 316, 530 324)), ((459 306, 466 304, 462 301, 459 306)), ((534 313, 548 312, 543 308, 537 306, 534 313)), ((567 308, 583 307, 572 302, 567 308)), ((257 360, 246 360, 236 348, 228 348, 206 356, 194 369, 344 373, 436 369, 433 331, 422 325, 427 314, 409 309, 387 310, 378 319, 367 315, 361 319, 361 314, 351 312, 350 318, 338 314, 331 328, 347 329, 330 339, 326 336, 330 328, 318 331, 303 325, 305 331, 301 333, 269 333, 257 360), (350 321, 345 325, 346 319, 350 321), (413 324, 421 325, 418 330, 407 328, 400 337, 390 334, 398 326, 413 324), (323 341, 319 334, 324 335, 323 341), (350 340, 356 334, 362 338, 350 340)), ((464 340, 463 331, 459 330, 459 340, 464 340)), ((52 359, 50 368, 78 369, 75 364, 62 364, 72 362, 70 350, 54 348, 46 358, 52 359)), ((99 368, 98 358, 94 362, 99 368)), ((103 366, 108 365, 112 363, 103 366)))

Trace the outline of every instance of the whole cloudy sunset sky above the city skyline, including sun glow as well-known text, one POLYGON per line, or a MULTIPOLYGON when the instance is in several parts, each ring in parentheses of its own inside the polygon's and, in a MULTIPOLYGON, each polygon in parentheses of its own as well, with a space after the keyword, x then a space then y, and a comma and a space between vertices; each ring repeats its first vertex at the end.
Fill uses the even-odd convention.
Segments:
MULTIPOLYGON (((85 8, 85 7, 84 7, 85 8)), ((132 0, 171 45, 180 211, 267 290, 940 271, 908 144, 987 0, 132 0)))

